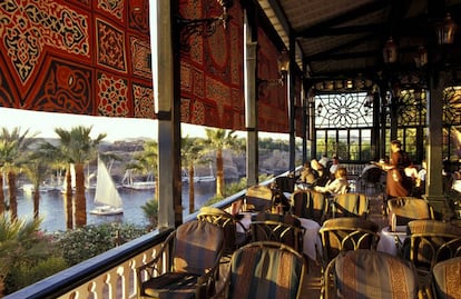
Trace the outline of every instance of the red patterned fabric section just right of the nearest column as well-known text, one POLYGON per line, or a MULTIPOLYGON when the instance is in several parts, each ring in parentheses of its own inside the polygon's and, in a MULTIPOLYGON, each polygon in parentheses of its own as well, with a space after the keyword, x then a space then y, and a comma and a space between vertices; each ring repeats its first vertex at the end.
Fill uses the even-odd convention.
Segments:
MULTIPOLYGON (((180 0, 184 18, 212 18, 222 8, 212 0, 180 0)), ((227 28, 216 27, 207 38, 193 34, 190 49, 180 51, 182 121, 243 130, 243 10, 238 2, 229 9, 227 28)))

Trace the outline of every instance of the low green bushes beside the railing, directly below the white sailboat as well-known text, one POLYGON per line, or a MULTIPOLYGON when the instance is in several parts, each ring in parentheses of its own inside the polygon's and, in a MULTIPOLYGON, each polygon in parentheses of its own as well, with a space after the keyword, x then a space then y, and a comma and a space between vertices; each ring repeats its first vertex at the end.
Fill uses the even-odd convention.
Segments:
POLYGON ((146 233, 146 229, 130 223, 90 225, 55 235, 55 246, 69 266, 96 257, 116 246, 146 233))

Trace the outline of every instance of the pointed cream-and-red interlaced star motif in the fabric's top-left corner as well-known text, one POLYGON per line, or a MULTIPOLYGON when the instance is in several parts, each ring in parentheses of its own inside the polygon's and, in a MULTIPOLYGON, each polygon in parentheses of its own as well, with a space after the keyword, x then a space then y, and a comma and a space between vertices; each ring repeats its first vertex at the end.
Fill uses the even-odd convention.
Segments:
POLYGON ((89 57, 88 18, 53 0, 0 1, 0 37, 22 84, 46 48, 89 57))

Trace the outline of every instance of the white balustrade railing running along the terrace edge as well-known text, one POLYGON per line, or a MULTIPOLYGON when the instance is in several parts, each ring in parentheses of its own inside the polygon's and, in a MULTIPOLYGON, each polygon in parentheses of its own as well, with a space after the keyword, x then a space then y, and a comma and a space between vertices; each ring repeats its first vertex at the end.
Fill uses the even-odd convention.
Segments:
MULTIPOLYGON (((273 180, 271 179, 262 185, 271 183, 273 180)), ((214 206, 227 208, 234 201, 244 197, 245 192, 246 190, 242 190, 214 206)), ((197 212, 188 215, 185 217, 184 222, 195 219, 196 216, 197 212)), ((4 298, 136 298, 138 286, 136 268, 146 263, 155 256, 161 242, 170 232, 171 229, 165 231, 155 230, 4 298)))

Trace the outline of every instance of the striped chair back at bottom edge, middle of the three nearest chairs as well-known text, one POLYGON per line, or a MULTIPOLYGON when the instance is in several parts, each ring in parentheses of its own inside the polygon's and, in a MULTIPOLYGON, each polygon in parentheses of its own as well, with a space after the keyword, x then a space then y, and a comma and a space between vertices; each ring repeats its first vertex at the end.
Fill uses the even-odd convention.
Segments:
POLYGON ((234 252, 227 283, 214 298, 297 299, 306 269, 304 257, 286 245, 252 242, 234 252))

